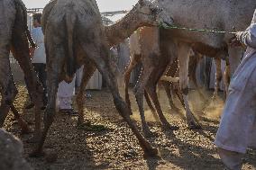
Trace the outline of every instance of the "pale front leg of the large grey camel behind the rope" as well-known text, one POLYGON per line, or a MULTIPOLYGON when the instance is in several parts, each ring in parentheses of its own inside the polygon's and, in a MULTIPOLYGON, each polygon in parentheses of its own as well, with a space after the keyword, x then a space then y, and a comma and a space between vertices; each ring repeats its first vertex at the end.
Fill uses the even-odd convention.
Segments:
POLYGON ((187 125, 190 129, 200 128, 197 120, 190 110, 188 103, 188 53, 190 47, 186 43, 178 44, 178 64, 179 64, 179 86, 182 90, 186 107, 187 125))

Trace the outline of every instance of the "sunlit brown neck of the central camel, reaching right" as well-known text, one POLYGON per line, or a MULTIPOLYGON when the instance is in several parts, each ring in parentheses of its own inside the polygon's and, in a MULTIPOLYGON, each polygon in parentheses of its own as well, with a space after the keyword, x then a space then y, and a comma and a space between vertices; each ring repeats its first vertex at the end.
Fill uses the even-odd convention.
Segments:
POLYGON ((115 22, 113 25, 105 27, 105 35, 110 47, 117 45, 123 40, 127 39, 142 26, 135 10, 127 13, 121 20, 115 22))

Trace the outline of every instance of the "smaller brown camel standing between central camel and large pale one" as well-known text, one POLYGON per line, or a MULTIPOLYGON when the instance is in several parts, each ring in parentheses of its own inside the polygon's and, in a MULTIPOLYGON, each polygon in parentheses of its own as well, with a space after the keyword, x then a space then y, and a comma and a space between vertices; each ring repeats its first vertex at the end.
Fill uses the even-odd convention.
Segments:
MULTIPOLYGON (((175 43, 175 41, 171 41, 171 39, 169 39, 169 41, 161 40, 160 29, 158 28, 144 27, 140 29, 138 33, 139 33, 139 46, 141 49, 137 48, 137 51, 131 51, 131 54, 132 54, 131 61, 124 73, 126 103, 128 104, 128 106, 131 107, 129 94, 128 94, 128 84, 129 84, 130 74, 131 74, 131 71, 133 70, 133 67, 135 67, 136 64, 141 60, 142 72, 137 84, 134 87, 133 92, 135 94, 135 98, 138 103, 139 111, 141 114, 143 134, 146 137, 152 136, 151 130, 149 129, 145 121, 144 109, 143 109, 143 95, 145 95, 145 99, 149 104, 151 111, 154 113, 156 110, 163 130, 166 130, 167 127, 169 127, 170 130, 178 130, 178 127, 170 126, 169 122, 166 120, 165 116, 163 115, 163 112, 160 108, 160 102, 158 100, 158 96, 156 93, 156 88, 157 88, 158 82, 160 81, 160 77, 164 74, 169 64, 173 64, 173 66, 171 67, 174 68, 174 69, 170 69, 169 74, 175 73, 175 70, 177 69, 177 67, 175 67, 175 64, 177 65, 177 62, 175 62, 175 60, 178 58, 176 54, 176 50, 178 49, 178 46, 175 43), (139 54, 140 52, 141 52, 141 55, 139 54), (149 99, 148 94, 150 95, 151 100, 154 103, 155 109, 151 105, 151 100, 149 99)), ((132 37, 132 40, 133 40, 133 37, 132 37)), ((135 43, 135 44, 138 44, 138 43, 135 43)), ((135 48, 132 48, 132 49, 135 49, 135 48)), ((167 85, 165 86, 166 86, 165 89, 168 91, 169 89, 167 88, 167 85)), ((169 95, 169 93, 167 94, 169 95)), ((178 95, 178 97, 180 97, 180 100, 183 103, 181 99, 181 95, 178 95)), ((172 108, 176 109, 174 103, 171 100, 170 95, 169 95, 169 104, 172 108)), ((184 103, 184 105, 186 107, 186 103, 184 103)), ((191 115, 187 115, 187 119, 190 119, 193 121, 193 122, 187 121, 188 126, 190 128, 199 127, 192 113, 191 115)))

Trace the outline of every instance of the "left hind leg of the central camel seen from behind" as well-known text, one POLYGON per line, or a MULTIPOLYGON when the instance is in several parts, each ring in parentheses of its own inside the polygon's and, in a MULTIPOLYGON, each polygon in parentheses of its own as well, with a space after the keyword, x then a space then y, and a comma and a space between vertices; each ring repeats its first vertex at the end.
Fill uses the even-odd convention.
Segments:
POLYGON ((54 121, 56 114, 56 98, 58 92, 58 86, 60 82, 59 76, 61 75, 61 65, 65 59, 65 45, 59 42, 59 39, 54 39, 54 37, 46 35, 45 39, 45 51, 46 58, 48 58, 47 63, 47 94, 48 103, 44 112, 44 129, 41 133, 41 139, 37 144, 36 148, 33 150, 31 157, 41 157, 43 155, 42 148, 44 141, 46 139, 48 130, 54 121), (50 40, 52 43, 47 43, 50 40))

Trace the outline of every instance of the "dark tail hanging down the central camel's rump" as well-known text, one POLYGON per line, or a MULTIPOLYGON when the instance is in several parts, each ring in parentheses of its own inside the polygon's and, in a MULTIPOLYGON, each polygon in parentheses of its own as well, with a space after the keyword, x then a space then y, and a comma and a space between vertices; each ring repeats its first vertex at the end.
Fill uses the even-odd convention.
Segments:
POLYGON ((66 66, 67 66, 67 76, 73 77, 76 72, 76 55, 74 49, 74 28, 77 21, 77 16, 75 13, 69 11, 66 13, 66 28, 67 28, 67 38, 68 38, 68 54, 66 55, 66 66))

